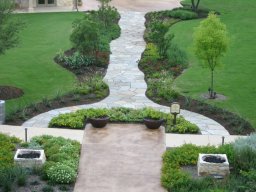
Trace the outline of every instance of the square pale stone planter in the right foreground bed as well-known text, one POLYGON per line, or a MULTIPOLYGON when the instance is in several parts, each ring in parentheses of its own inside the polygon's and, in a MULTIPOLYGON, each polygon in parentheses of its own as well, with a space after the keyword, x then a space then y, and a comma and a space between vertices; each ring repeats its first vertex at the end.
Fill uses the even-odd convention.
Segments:
POLYGON ((229 162, 226 154, 199 154, 197 161, 198 176, 223 178, 229 175, 229 162))

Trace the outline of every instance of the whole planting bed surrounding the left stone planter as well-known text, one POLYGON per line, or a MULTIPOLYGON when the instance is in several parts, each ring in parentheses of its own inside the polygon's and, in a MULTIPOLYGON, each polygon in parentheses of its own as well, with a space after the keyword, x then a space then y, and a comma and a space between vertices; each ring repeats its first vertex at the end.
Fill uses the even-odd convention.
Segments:
POLYGON ((0 191, 18 191, 20 187, 25 191, 73 191, 79 156, 80 143, 70 139, 44 135, 21 143, 16 137, 0 134, 0 191), (16 166, 17 148, 44 149, 47 161, 43 167, 31 169, 16 166))

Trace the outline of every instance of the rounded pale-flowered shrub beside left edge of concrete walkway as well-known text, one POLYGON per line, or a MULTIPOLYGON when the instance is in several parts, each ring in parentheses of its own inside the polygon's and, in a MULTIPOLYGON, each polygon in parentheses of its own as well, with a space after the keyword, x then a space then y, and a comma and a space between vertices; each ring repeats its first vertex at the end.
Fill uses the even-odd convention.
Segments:
POLYGON ((68 184, 76 179, 76 172, 67 165, 56 164, 47 171, 49 180, 53 183, 68 184))

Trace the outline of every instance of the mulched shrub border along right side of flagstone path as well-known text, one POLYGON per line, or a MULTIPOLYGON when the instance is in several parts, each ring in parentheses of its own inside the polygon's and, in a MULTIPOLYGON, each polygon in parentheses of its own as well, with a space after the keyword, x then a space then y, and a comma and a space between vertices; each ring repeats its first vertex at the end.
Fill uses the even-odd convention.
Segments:
MULTIPOLYGON (((139 68, 145 74, 145 80, 148 84, 146 92, 147 97, 161 105, 170 106, 173 101, 181 104, 183 109, 187 109, 196 113, 208 116, 211 119, 223 125, 230 134, 243 134, 247 135, 255 131, 252 125, 237 114, 231 113, 225 109, 218 108, 203 101, 195 100, 185 97, 173 90, 172 83, 174 79, 182 73, 187 67, 186 54, 177 45, 172 43, 173 34, 171 33, 171 26, 181 20, 183 17, 177 15, 186 14, 190 9, 189 6, 179 8, 171 11, 159 11, 146 14, 146 30, 144 34, 145 41, 147 42, 146 49, 142 54, 139 62, 139 68), (175 15, 175 18, 173 17, 175 15), (160 23, 158 30, 155 30, 155 23, 160 23), (165 26, 165 27, 163 27, 165 26), (153 29, 153 30, 152 30, 153 29), (160 57, 158 39, 164 39, 167 47, 166 54, 160 57), (172 51, 168 51, 172 50, 172 51)), ((205 17, 209 10, 199 9, 198 17, 205 17)), ((190 13, 189 13, 190 15, 190 13)), ((187 17, 186 19, 194 19, 196 17, 187 17)))

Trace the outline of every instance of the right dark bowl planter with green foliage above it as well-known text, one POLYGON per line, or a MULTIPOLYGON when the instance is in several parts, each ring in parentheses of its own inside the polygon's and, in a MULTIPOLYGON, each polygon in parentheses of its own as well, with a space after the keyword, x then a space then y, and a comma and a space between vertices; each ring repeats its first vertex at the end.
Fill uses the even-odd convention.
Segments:
POLYGON ((161 112, 156 111, 152 108, 145 108, 144 112, 144 124, 147 128, 158 129, 164 122, 161 112))

